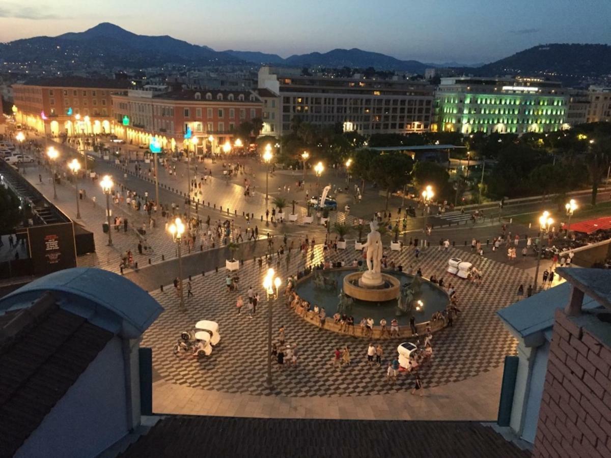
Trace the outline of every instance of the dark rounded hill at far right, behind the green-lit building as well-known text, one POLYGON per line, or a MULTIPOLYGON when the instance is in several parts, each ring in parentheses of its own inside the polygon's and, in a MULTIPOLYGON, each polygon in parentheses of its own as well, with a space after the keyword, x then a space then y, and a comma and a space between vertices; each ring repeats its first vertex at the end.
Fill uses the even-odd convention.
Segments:
POLYGON ((540 75, 565 82, 596 78, 611 73, 611 46, 564 43, 540 45, 482 65, 475 72, 485 76, 540 75))

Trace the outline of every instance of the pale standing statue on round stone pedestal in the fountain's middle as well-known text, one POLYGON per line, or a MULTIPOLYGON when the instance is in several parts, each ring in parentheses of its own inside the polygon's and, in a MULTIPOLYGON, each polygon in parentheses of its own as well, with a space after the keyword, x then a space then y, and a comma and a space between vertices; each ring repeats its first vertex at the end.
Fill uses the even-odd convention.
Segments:
POLYGON ((367 234, 367 271, 348 274, 343 279, 343 291, 350 297, 368 302, 385 302, 401 297, 401 283, 392 275, 382 274, 382 238, 375 220, 367 234))

